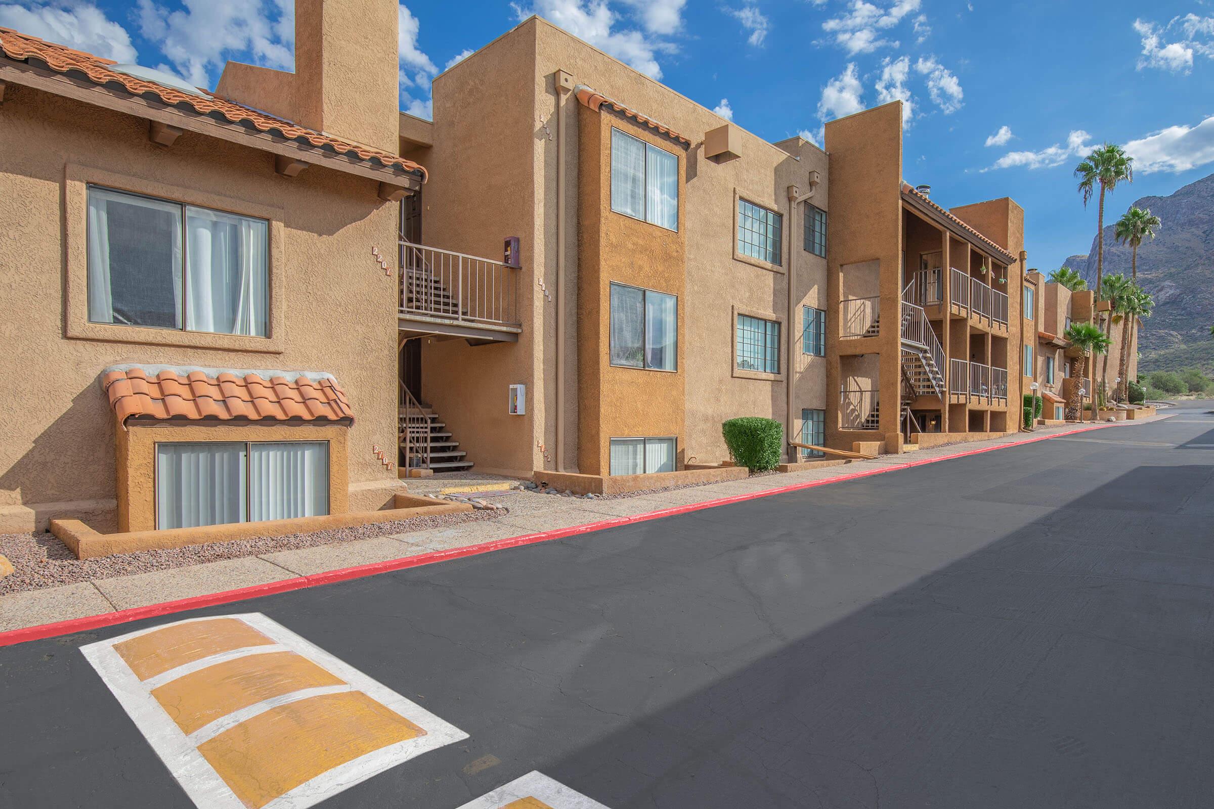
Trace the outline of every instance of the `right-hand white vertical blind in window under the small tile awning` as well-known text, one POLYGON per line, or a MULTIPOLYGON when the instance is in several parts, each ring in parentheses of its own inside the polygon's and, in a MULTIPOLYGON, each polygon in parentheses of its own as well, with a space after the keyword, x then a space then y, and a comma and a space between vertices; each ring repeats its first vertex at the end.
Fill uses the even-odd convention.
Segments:
POLYGON ((329 513, 329 444, 254 444, 249 456, 249 519, 329 513))

